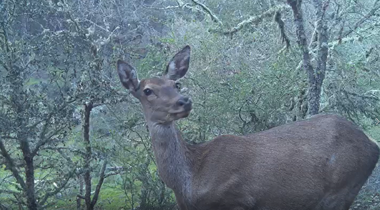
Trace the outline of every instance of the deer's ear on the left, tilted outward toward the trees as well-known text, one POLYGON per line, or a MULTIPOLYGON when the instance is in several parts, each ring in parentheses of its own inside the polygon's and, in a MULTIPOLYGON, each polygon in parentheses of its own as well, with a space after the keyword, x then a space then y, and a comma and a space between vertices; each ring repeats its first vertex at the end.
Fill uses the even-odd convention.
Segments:
POLYGON ((136 92, 139 89, 140 80, 137 76, 135 68, 129 65, 127 62, 118 60, 116 64, 117 73, 121 83, 127 88, 135 97, 136 92))

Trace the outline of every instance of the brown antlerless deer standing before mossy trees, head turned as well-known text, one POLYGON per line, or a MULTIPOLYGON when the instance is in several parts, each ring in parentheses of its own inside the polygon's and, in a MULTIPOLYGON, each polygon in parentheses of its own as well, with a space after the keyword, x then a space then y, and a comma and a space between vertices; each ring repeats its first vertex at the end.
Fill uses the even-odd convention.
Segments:
POLYGON ((121 84, 142 105, 158 174, 180 210, 349 209, 378 163, 374 140, 341 116, 317 114, 190 144, 175 123, 192 111, 179 90, 189 65, 189 45, 162 76, 140 80, 132 65, 116 63, 121 84))

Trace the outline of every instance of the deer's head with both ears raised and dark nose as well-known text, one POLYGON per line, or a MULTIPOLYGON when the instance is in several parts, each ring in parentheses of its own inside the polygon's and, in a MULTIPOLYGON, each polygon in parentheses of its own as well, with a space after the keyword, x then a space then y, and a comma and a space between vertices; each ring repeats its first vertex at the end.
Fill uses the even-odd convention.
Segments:
POLYGON ((189 69, 190 46, 186 45, 168 63, 161 77, 139 80, 131 65, 118 60, 117 72, 121 83, 140 100, 148 122, 165 124, 189 116, 192 102, 180 93, 180 83, 189 69))

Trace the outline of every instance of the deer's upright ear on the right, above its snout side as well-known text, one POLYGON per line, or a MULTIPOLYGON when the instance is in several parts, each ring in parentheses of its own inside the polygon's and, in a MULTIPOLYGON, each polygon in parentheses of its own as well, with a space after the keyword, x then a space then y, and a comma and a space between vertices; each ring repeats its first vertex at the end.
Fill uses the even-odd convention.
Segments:
POLYGON ((190 46, 186 45, 170 61, 166 67, 165 76, 171 80, 178 80, 189 70, 190 46))

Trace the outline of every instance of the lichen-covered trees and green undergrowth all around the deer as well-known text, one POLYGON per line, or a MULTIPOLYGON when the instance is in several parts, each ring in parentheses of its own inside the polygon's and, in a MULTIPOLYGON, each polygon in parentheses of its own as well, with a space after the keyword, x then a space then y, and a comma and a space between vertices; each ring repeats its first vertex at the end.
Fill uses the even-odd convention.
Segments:
MULTIPOLYGON (((190 143, 315 111, 380 140, 380 0, 1 0, 0 16, 0 210, 176 209, 115 64, 162 75, 186 44, 190 143)), ((379 192, 377 168, 352 209, 379 192)))

